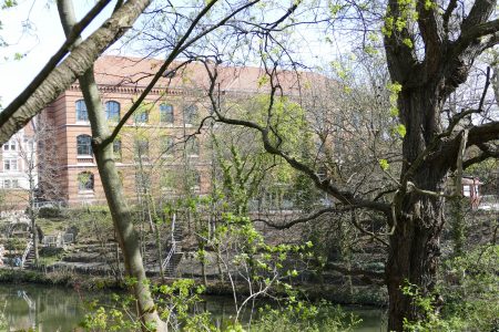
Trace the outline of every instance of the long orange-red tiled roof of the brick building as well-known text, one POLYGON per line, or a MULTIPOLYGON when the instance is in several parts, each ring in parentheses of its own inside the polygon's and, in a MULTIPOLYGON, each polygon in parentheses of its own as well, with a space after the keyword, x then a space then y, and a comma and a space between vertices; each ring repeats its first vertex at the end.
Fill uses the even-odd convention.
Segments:
MULTIPOLYGON (((173 63, 166 71, 166 76, 155 84, 155 89, 207 91, 210 80, 204 64, 191 62, 176 70, 181 63, 173 63)), ((101 86, 141 90, 151 82, 162 64, 163 61, 157 59, 103 55, 94 64, 95 81, 101 86)), ((267 77, 265 71, 259 68, 221 65, 217 81, 221 91, 225 93, 258 93, 268 92, 267 77)), ((325 76, 309 72, 278 71, 276 79, 284 94, 296 95, 301 90, 324 81, 325 76)))

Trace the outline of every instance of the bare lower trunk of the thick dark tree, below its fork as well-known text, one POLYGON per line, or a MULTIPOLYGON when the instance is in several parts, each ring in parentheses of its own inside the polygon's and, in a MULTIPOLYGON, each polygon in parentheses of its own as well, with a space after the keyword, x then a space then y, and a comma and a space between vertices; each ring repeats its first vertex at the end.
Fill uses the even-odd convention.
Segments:
MULTIPOLYGON (((406 125, 404 137, 404 167, 401 179, 408 175, 418 189, 442 193, 447 177, 447 160, 434 160, 429 156, 416 169, 411 169, 417 157, 431 144, 439 126, 439 112, 435 90, 401 92, 399 111, 406 125)), ((390 250, 386 268, 389 294, 388 331, 403 331, 404 318, 420 318, 413 299, 403 294, 401 288, 415 284, 422 294, 428 294, 436 283, 439 257, 439 237, 444 224, 444 197, 404 193, 397 205, 396 228, 390 236, 390 250)))

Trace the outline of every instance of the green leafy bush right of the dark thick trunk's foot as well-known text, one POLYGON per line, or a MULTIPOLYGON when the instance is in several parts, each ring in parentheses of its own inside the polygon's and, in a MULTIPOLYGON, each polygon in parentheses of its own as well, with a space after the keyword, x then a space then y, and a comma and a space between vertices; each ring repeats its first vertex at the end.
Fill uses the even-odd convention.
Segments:
POLYGON ((482 246, 444 264, 436 294, 404 288, 425 319, 405 321, 408 331, 499 331, 499 246, 482 246), (437 308, 436 298, 444 305, 437 308))

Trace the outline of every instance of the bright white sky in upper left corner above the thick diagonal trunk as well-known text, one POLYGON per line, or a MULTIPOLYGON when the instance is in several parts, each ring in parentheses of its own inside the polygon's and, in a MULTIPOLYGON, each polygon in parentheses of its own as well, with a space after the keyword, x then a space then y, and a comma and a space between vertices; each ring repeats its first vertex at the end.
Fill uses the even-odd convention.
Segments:
MULTIPOLYGON (((77 18, 82 18, 94 1, 78 0, 77 18)), ((113 2, 83 33, 89 35, 111 14, 113 2)), ((64 42, 54 1, 21 0, 19 6, 0 10, 0 35, 10 44, 0 48, 0 104, 6 107, 40 72, 53 53, 64 42), (13 60, 14 54, 26 54, 13 60)))

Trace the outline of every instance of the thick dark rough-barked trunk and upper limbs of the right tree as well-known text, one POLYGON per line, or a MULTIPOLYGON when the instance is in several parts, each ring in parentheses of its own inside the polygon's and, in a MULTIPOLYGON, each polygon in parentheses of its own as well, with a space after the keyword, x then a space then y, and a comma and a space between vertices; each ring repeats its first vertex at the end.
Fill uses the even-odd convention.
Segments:
MULTIPOLYGON (((444 128, 441 112, 450 93, 467 81, 475 59, 498 43, 499 20, 489 20, 496 3, 496 0, 466 2, 469 10, 459 17, 456 1, 450 1, 447 8, 416 1, 417 18, 397 27, 391 22, 403 18, 407 7, 398 0, 388 0, 386 17, 391 20, 385 24, 385 52, 390 79, 401 85, 398 111, 406 127, 400 186, 394 199, 394 214, 388 218, 395 227, 386 266, 389 331, 403 331, 404 318, 414 320, 420 315, 400 288, 409 282, 429 295, 436 282, 445 204, 440 193, 449 172, 457 167, 464 135, 455 125, 462 118, 460 115, 466 115, 461 111, 444 128), (451 25, 452 20, 459 20, 460 24, 451 25), (422 59, 404 41, 420 42, 422 59)), ((473 126, 469 128, 466 147, 498 138, 497 122, 473 126)))

